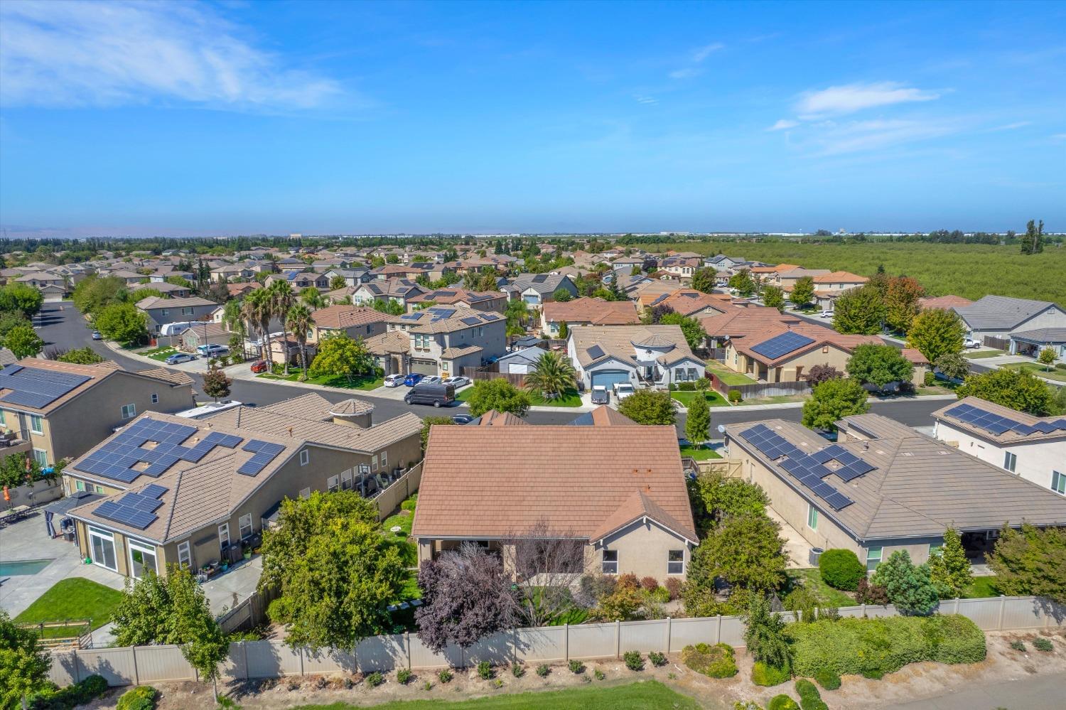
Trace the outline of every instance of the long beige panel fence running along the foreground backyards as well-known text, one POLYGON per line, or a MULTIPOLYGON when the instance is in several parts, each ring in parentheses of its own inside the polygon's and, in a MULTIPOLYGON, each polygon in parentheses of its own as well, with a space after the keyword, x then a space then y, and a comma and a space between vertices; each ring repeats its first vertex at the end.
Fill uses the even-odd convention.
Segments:
MULTIPOLYGON (((237 610, 235 610, 237 611, 237 610)), ((951 599, 940 603, 944 614, 962 614, 982 629, 1023 630, 1061 628, 1066 608, 1040 597, 994 597, 951 599)), ((887 607, 846 607, 841 616, 894 616, 887 607)), ((791 612, 782 613, 794 620, 791 612)), ((354 652, 312 652, 291 648, 279 641, 237 642, 229 646, 223 668, 226 679, 279 678, 314 674, 388 672, 395 668, 432 669, 469 667, 481 661, 494 664, 565 663, 571 659, 618 658, 629 650, 679 652, 684 646, 705 642, 744 645, 744 623, 737 616, 616 622, 515 629, 487 636, 470 648, 450 646, 441 653, 426 648, 409 633, 365 639, 354 652)), ((177 646, 139 646, 54 652, 51 679, 60 685, 99 674, 111 685, 198 680, 196 672, 177 646)))

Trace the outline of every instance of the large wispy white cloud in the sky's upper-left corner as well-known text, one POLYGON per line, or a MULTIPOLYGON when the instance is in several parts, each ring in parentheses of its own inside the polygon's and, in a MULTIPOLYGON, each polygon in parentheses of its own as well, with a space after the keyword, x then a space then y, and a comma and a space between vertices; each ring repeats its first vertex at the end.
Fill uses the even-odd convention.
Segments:
MULTIPOLYGON (((0 2, 0 97, 7 106, 179 100, 223 109, 309 109, 341 94, 282 66, 205 5, 0 2)), ((349 93, 349 98, 353 98, 349 93)))

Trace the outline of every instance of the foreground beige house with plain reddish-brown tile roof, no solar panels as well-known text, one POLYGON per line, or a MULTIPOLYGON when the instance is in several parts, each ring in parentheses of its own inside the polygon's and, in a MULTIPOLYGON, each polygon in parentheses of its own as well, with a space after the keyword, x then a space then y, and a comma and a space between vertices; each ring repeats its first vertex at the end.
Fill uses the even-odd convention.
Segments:
POLYGON ((513 569, 514 540, 548 534, 583 550, 559 572, 685 578, 698 540, 673 426, 479 423, 430 432, 411 528, 420 562, 473 543, 513 569))

